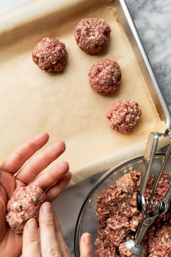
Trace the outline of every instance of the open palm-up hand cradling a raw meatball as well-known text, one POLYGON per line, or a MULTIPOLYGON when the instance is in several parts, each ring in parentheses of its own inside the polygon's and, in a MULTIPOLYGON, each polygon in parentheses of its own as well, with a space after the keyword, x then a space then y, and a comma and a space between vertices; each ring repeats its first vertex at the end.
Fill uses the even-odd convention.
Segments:
POLYGON ((67 162, 58 163, 37 177, 41 171, 64 152, 65 144, 61 141, 48 146, 42 153, 30 159, 22 168, 23 164, 47 143, 48 139, 49 135, 47 133, 32 137, 15 149, 0 165, 1 256, 18 257, 22 252, 22 234, 14 233, 6 222, 6 205, 14 190, 30 183, 37 185, 45 191, 47 200, 52 203, 71 179, 67 162), (18 173, 14 177, 16 172, 18 173))

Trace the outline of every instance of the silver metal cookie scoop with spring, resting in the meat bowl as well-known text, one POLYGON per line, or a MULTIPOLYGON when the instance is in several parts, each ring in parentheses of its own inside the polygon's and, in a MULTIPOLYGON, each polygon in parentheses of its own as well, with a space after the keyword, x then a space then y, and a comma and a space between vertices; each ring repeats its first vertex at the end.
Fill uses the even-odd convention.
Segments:
POLYGON ((147 248, 146 241, 143 240, 144 235, 148 227, 154 222, 155 218, 158 215, 166 214, 171 207, 171 183, 162 200, 153 199, 156 188, 158 186, 160 178, 162 177, 162 173, 164 171, 164 168, 166 166, 167 160, 171 152, 171 134, 169 134, 169 132, 171 132, 171 130, 169 129, 167 129, 164 134, 152 132, 148 137, 144 159, 143 159, 143 165, 142 165, 139 193, 137 194, 137 210, 142 212, 142 219, 138 226, 136 234, 128 235, 122 242, 125 245, 125 247, 132 252, 132 255, 131 255, 132 257, 147 256, 148 248, 147 248), (155 153, 157 150, 159 136, 168 136, 170 140, 170 144, 166 153, 166 157, 162 164, 162 168, 159 172, 154 188, 150 195, 150 199, 147 200, 147 199, 144 199, 144 193, 145 193, 147 181, 150 175, 150 170, 152 168, 155 153), (149 207, 152 208, 152 211, 147 212, 149 207))

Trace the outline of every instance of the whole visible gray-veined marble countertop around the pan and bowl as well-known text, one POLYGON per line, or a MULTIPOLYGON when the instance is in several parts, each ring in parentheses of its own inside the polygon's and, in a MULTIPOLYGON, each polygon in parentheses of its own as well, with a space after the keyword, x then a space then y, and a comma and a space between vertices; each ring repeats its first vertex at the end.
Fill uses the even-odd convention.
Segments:
MULTIPOLYGON (((0 13, 26 2, 29 0, 1 1, 0 13)), ((170 0, 126 0, 126 3, 171 111, 171 2, 170 0)), ((74 232, 79 211, 88 191, 103 173, 104 171, 65 189, 53 203, 71 257, 74 256, 74 232)))

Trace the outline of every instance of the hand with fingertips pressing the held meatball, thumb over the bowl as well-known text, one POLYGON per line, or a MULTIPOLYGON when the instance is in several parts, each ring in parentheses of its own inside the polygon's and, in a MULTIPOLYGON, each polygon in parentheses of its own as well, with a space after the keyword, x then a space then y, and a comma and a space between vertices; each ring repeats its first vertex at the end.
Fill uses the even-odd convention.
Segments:
MULTIPOLYGON (((69 257, 56 214, 50 203, 43 203, 39 210, 40 245, 42 257, 69 257)), ((91 236, 84 233, 80 240, 80 257, 92 257, 91 236)), ((35 219, 30 219, 23 231, 23 257, 41 257, 38 247, 38 230, 35 219)))

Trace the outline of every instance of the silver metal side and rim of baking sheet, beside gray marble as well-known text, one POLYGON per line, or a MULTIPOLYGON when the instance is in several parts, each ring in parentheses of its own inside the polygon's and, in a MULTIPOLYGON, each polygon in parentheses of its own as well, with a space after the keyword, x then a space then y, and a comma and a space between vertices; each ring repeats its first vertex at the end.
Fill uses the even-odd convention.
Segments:
POLYGON ((125 0, 115 0, 115 7, 118 15, 117 20, 122 25, 122 28, 130 42, 160 119, 164 121, 168 127, 171 127, 171 115, 168 106, 125 0))

